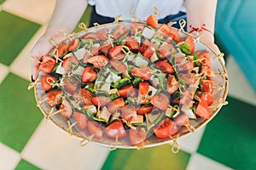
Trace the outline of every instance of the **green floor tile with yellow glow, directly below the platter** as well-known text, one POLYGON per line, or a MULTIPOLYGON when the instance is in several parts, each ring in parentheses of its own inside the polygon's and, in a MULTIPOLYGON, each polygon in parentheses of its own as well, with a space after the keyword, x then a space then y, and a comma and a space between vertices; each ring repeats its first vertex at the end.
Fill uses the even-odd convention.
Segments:
POLYGON ((146 170, 186 168, 190 155, 183 150, 172 153, 171 145, 165 144, 143 150, 113 150, 109 153, 102 170, 146 170))

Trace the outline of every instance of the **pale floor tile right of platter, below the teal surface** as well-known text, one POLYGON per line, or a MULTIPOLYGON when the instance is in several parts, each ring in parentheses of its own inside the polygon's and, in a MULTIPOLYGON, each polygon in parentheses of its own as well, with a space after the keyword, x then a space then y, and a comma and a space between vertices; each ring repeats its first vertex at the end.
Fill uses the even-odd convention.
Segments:
POLYGON ((226 67, 230 79, 229 95, 249 104, 256 105, 256 93, 232 56, 227 59, 226 67))

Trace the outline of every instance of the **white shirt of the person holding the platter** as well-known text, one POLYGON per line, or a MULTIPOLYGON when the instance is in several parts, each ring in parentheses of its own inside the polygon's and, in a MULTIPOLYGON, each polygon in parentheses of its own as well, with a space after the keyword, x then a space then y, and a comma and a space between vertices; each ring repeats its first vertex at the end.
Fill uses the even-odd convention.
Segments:
POLYGON ((183 0, 89 0, 89 3, 96 5, 97 14, 111 18, 121 14, 120 20, 134 20, 134 13, 139 20, 146 20, 154 14, 154 7, 158 9, 158 20, 179 11, 185 12, 183 0))

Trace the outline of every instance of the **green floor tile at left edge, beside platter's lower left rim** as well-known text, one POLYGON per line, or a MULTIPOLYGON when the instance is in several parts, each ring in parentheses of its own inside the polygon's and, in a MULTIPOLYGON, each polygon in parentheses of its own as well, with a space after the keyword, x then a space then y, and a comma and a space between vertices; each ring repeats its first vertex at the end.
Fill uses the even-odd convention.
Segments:
POLYGON ((10 73, 0 85, 0 142, 19 152, 43 118, 28 84, 10 73))

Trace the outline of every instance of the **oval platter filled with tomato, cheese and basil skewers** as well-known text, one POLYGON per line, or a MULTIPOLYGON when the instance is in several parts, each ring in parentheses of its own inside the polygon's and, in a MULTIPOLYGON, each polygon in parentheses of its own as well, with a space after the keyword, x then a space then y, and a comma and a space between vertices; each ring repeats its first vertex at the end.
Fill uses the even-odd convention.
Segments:
POLYGON ((56 45, 33 82, 44 116, 115 148, 166 144, 209 122, 228 90, 224 64, 169 25, 115 22, 56 45))

